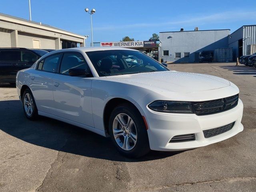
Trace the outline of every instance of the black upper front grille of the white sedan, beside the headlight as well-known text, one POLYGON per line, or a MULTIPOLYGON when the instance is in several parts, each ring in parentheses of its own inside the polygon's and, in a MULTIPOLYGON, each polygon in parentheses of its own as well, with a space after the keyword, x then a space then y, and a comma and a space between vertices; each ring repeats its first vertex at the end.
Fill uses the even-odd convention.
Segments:
POLYGON ((210 115, 230 110, 237 106, 238 94, 222 99, 192 102, 192 108, 196 115, 210 115))

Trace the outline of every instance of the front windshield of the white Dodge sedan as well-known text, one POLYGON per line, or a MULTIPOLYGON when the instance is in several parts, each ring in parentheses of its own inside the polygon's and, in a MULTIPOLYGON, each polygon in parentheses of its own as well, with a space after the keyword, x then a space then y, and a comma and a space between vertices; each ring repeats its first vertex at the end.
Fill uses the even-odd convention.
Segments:
POLYGON ((139 51, 104 50, 86 54, 99 76, 168 71, 156 60, 139 51))

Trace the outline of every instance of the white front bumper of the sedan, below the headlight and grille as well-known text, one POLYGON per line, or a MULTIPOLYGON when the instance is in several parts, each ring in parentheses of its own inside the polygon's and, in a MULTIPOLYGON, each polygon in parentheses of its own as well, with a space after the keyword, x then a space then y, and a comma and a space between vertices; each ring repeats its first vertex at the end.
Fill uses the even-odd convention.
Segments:
POLYGON ((168 114, 155 112, 148 108, 146 120, 148 122, 148 138, 150 148, 159 151, 188 150, 207 146, 228 139, 244 127, 241 124, 243 103, 239 99, 238 105, 228 111, 197 116, 196 114, 168 114), (205 138, 203 130, 218 128, 235 122, 233 128, 222 134, 205 138), (195 134, 195 140, 185 142, 170 142, 173 136, 195 134))

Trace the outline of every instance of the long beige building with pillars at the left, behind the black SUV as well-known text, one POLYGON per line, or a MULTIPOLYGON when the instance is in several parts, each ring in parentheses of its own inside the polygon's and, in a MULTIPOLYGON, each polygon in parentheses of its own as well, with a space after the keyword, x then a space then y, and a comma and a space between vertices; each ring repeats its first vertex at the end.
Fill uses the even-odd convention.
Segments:
POLYGON ((84 46, 85 37, 34 22, 0 13, 0 48, 24 47, 63 49, 84 46))

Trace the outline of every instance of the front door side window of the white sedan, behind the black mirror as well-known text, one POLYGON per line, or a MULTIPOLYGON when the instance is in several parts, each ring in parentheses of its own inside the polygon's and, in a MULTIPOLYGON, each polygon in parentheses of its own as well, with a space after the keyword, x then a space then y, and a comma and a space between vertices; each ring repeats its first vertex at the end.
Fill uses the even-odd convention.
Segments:
POLYGON ((84 57, 80 53, 64 53, 60 65, 60 73, 68 74, 70 69, 84 69, 88 68, 84 57))

